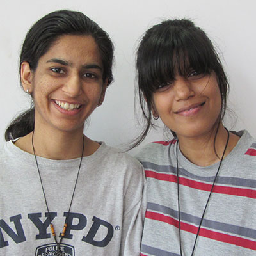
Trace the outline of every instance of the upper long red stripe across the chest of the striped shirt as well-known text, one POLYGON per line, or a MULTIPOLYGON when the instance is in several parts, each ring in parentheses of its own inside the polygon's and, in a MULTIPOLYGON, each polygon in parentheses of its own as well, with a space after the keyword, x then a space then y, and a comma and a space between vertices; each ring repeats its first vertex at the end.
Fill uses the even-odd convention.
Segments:
MULTIPOLYGON (((157 180, 164 180, 169 182, 177 183, 177 177, 173 174, 165 174, 165 173, 156 173, 153 171, 145 170, 146 177, 153 178, 157 180)), ((179 184, 187 186, 189 188, 194 188, 203 191, 211 191, 212 184, 207 184, 203 182, 198 182, 195 180, 189 180, 187 178, 179 178, 179 184)), ((256 198, 256 190, 252 189, 245 189, 245 188, 234 188, 228 186, 218 186, 215 185, 213 189, 214 193, 219 194, 227 194, 227 195, 234 195, 234 196, 244 196, 248 198, 256 198)))

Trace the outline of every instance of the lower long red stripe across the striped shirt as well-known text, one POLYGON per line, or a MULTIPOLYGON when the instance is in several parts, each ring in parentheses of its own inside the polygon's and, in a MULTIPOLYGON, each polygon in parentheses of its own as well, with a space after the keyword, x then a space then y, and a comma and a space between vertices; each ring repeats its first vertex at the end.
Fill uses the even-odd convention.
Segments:
MULTIPOLYGON (((152 220, 157 220, 157 221, 163 221, 165 223, 168 223, 170 225, 173 225, 173 226, 179 228, 179 221, 177 221, 169 216, 164 216, 163 214, 147 211, 146 218, 149 218, 152 220)), ((196 234, 197 230, 198 230, 198 227, 195 227, 194 225, 184 223, 184 222, 180 223, 180 228, 184 231, 187 231, 187 232, 190 232, 193 234, 196 234)), ((244 238, 237 237, 237 236, 231 236, 228 234, 223 234, 223 233, 215 232, 212 230, 207 230, 206 228, 200 228, 199 236, 207 237, 209 239, 213 239, 216 241, 221 241, 223 243, 235 244, 237 246, 241 246, 241 247, 248 248, 251 250, 256 250, 256 241, 244 239, 244 238)))

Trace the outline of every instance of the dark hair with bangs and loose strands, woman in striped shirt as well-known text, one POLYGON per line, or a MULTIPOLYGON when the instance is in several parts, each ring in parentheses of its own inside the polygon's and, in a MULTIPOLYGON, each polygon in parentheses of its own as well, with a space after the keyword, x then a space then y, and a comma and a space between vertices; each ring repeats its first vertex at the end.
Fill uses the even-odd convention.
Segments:
MULTIPOLYGON (((148 29, 138 47, 136 68, 140 105, 147 124, 134 146, 154 127, 152 93, 157 86, 173 81, 177 73, 186 76, 191 68, 202 74, 215 72, 221 93, 220 124, 227 104, 227 76, 211 40, 191 20, 166 20, 148 29)), ((172 134, 176 136, 173 131, 172 134)))

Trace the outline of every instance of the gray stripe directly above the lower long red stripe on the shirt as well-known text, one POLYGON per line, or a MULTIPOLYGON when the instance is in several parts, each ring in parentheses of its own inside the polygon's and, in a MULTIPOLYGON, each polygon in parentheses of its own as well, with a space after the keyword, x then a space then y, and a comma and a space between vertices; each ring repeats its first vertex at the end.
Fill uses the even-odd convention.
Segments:
MULTIPOLYGON (((179 218, 178 211, 175 211, 172 208, 166 207, 164 205, 148 202, 147 209, 151 211, 157 211, 163 214, 168 214, 169 216, 172 216, 177 220, 179 218)), ((201 218, 193 216, 191 214, 187 214, 185 212, 180 212, 180 220, 187 221, 189 223, 193 223, 198 226, 201 218)), ((202 227, 203 226, 207 228, 212 228, 214 230, 219 230, 219 231, 228 232, 231 234, 237 234, 239 236, 256 239, 256 230, 253 230, 251 228, 244 228, 237 225, 230 225, 230 224, 222 223, 219 221, 207 220, 205 218, 202 222, 202 227)))

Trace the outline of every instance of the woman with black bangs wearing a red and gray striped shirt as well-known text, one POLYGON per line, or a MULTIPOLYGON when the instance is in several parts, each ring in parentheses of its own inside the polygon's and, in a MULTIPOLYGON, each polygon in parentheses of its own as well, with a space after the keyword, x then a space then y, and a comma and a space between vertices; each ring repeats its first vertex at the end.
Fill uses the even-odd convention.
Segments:
POLYGON ((255 255, 256 141, 223 125, 228 81, 211 40, 187 19, 148 29, 136 67, 141 143, 154 119, 170 141, 144 147, 141 255, 255 255))

